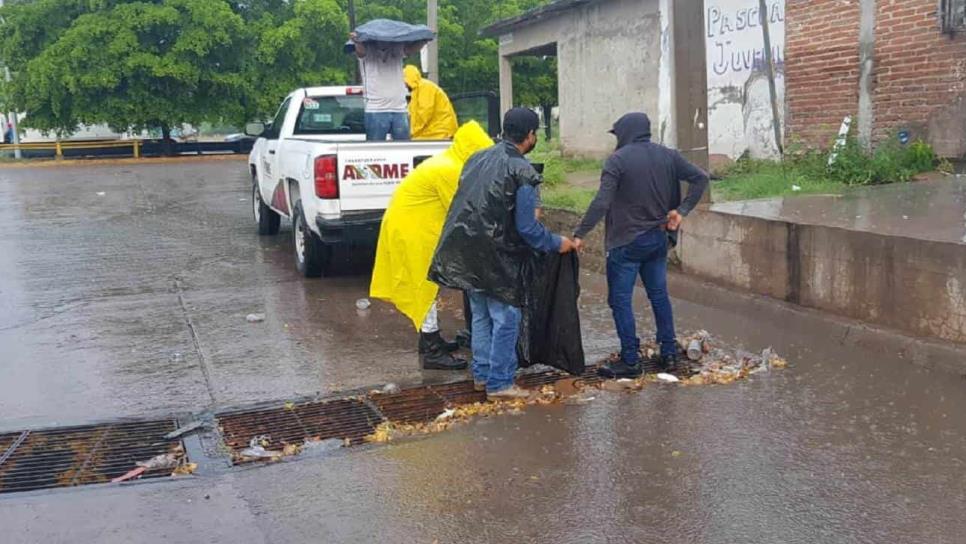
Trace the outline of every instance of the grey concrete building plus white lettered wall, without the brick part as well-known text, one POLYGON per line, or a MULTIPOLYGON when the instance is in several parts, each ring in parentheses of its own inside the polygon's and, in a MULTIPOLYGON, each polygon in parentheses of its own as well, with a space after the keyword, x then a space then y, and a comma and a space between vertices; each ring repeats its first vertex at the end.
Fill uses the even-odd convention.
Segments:
MULTIPOLYGON (((785 3, 769 5, 781 114, 785 3)), ((500 39, 504 109, 513 104, 514 57, 557 57, 567 152, 610 151, 613 121, 645 111, 657 141, 732 159, 770 157, 778 146, 759 17, 758 0, 558 0, 484 32, 500 39)))

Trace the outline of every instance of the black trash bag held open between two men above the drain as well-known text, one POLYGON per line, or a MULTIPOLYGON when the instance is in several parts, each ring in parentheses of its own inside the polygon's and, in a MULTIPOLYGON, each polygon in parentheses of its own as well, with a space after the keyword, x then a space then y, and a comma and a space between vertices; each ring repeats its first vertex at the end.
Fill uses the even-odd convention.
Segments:
POLYGON ((548 253, 535 261, 523 311, 517 357, 521 367, 545 364, 570 374, 584 373, 580 338, 580 263, 575 252, 548 253))

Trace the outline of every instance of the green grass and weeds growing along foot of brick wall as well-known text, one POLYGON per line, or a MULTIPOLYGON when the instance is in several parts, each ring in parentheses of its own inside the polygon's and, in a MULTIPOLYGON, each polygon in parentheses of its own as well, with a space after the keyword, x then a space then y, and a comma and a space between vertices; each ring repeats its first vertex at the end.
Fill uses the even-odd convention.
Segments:
POLYGON ((790 151, 785 163, 739 159, 713 186, 717 202, 793 194, 841 194, 850 187, 902 183, 936 167, 936 154, 923 142, 884 143, 868 152, 849 138, 829 166, 829 152, 790 151))

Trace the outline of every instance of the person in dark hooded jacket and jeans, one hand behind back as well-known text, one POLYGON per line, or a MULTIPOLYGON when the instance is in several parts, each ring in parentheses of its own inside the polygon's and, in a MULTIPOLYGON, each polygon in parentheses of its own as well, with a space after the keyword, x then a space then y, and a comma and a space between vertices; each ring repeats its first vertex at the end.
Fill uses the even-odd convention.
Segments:
POLYGON ((661 352, 657 363, 672 369, 678 363, 674 316, 667 291, 668 231, 677 231, 708 186, 708 174, 680 153, 651 142, 651 121, 644 113, 621 117, 611 132, 617 150, 604 163, 600 190, 580 226, 581 239, 606 217, 608 304, 621 341, 621 359, 600 368, 608 378, 641 375, 641 341, 632 306, 640 276, 651 302, 661 352), (681 201, 681 181, 689 183, 681 201))

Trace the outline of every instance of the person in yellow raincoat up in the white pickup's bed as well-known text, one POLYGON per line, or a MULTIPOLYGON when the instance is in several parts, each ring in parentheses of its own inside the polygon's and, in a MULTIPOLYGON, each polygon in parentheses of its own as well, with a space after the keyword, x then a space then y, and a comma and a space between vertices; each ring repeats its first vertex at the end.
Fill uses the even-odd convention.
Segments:
POLYGON ((407 65, 403 79, 412 93, 409 100, 409 127, 413 140, 449 140, 456 132, 456 112, 449 97, 419 68, 407 65))

